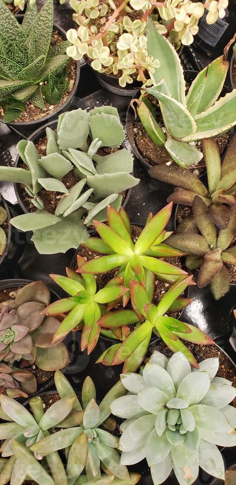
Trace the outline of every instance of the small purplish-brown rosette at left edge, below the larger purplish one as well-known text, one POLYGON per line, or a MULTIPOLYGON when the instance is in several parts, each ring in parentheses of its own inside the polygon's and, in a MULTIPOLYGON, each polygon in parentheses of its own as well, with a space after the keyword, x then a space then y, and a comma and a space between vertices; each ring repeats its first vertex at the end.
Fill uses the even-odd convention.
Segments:
POLYGON ((0 394, 6 392, 9 397, 28 397, 36 391, 37 381, 32 372, 0 362, 0 394))

